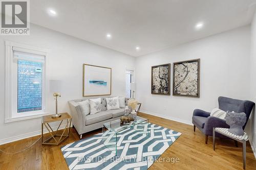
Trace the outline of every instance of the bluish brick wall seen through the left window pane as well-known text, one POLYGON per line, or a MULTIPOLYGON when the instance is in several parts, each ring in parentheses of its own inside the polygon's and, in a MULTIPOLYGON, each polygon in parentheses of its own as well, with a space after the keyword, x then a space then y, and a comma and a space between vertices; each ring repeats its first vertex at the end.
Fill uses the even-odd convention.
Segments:
POLYGON ((40 62, 18 60, 18 112, 40 110, 42 104, 40 62))

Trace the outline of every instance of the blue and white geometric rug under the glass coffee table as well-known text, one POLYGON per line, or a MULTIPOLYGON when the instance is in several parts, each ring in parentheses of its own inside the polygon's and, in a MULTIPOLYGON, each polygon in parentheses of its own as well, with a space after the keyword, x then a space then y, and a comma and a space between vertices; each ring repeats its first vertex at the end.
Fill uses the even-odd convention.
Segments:
POLYGON ((62 147, 69 169, 147 169, 181 133, 151 123, 136 125, 118 133, 117 156, 103 143, 110 135, 105 131, 62 147))

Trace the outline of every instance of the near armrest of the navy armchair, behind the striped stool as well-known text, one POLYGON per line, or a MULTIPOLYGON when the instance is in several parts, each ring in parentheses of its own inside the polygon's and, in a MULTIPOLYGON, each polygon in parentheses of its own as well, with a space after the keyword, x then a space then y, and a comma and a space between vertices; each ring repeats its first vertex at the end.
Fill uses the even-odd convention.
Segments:
POLYGON ((207 117, 204 124, 205 134, 212 136, 213 128, 229 128, 229 125, 226 124, 226 120, 214 116, 209 116, 207 117))

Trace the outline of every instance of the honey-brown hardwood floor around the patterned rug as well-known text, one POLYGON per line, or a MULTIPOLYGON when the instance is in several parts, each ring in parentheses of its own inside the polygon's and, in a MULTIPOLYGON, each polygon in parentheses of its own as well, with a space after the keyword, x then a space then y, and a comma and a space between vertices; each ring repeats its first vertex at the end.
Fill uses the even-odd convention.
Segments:
MULTIPOLYGON (((212 137, 208 137, 205 144, 205 136, 193 126, 174 122, 172 120, 140 113, 147 117, 151 123, 157 124, 178 132, 182 135, 161 155, 161 158, 179 158, 179 162, 156 161, 150 169, 243 169, 242 144, 235 147, 233 140, 217 139, 216 151, 212 149, 212 137)), ((101 129, 84 134, 83 138, 101 132, 101 129)), ((7 143, 0 146, 6 152, 16 152, 26 148, 39 136, 7 143)), ((70 137, 58 146, 42 145, 40 140, 30 149, 15 155, 0 152, 0 169, 68 169, 60 147, 79 140, 74 129, 70 137)), ((256 160, 247 142, 246 169, 256 169, 256 160)))

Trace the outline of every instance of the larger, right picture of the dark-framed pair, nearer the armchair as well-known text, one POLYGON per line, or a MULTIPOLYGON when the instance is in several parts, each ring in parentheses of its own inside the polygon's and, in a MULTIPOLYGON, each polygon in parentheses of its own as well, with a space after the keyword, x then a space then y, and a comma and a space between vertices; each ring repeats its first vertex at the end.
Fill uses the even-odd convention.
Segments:
POLYGON ((173 95, 200 97, 200 59, 174 63, 173 95))

